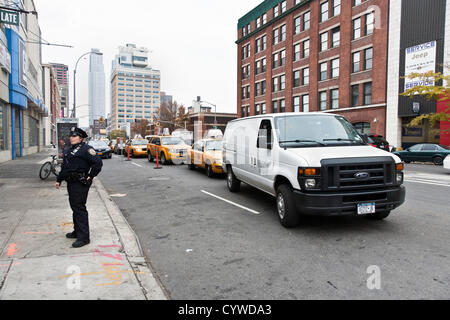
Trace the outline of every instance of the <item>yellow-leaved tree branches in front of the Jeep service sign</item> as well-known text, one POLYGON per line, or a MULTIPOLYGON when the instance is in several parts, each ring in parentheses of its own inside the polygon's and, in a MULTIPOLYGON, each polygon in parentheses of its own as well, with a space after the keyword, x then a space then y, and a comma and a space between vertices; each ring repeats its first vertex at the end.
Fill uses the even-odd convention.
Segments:
MULTIPOLYGON (((450 69, 450 66, 446 66, 446 68, 450 69)), ((443 112, 420 115, 414 118, 408 124, 408 127, 420 126, 423 120, 428 120, 431 128, 434 128, 440 122, 450 121, 450 76, 444 76, 440 72, 430 71, 426 73, 412 73, 404 78, 417 79, 421 83, 434 81, 435 85, 417 85, 400 94, 401 96, 410 97, 411 99, 415 96, 422 96, 429 101, 447 102, 448 107, 443 112)))

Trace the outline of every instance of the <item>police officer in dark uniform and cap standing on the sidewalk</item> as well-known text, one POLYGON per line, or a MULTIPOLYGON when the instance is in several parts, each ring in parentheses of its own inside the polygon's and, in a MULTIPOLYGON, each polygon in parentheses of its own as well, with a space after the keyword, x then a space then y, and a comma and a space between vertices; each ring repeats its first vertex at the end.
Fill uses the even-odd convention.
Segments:
POLYGON ((102 170, 103 162, 95 150, 84 143, 87 133, 79 128, 70 132, 71 146, 64 150, 61 173, 58 175, 56 189, 63 181, 67 182, 70 207, 73 211, 74 232, 66 235, 68 239, 77 239, 74 248, 81 248, 90 243, 89 220, 86 202, 92 180, 102 170))

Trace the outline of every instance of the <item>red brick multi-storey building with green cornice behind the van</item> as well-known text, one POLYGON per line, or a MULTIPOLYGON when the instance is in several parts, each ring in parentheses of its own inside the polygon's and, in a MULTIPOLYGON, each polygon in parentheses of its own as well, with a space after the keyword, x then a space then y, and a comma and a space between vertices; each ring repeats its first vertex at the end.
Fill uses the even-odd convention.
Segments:
POLYGON ((386 132, 389 0, 266 0, 238 23, 238 116, 333 112, 386 132))

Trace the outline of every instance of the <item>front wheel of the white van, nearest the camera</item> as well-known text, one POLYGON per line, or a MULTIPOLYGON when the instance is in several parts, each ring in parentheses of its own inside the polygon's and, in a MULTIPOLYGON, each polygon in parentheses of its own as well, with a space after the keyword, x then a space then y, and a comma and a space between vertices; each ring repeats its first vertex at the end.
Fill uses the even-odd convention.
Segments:
POLYGON ((289 185, 283 184, 278 187, 277 210, 283 227, 295 228, 300 224, 300 214, 295 207, 294 195, 289 185))

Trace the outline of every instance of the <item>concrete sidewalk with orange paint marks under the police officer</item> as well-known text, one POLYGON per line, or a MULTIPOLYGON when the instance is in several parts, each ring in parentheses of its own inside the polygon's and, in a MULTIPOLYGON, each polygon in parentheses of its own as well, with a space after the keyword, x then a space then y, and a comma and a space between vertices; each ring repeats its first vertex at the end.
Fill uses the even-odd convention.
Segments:
POLYGON ((54 177, 38 177, 49 155, 0 164, 0 300, 165 300, 134 232, 99 179, 87 205, 91 244, 71 247, 66 184, 58 191, 54 177))

